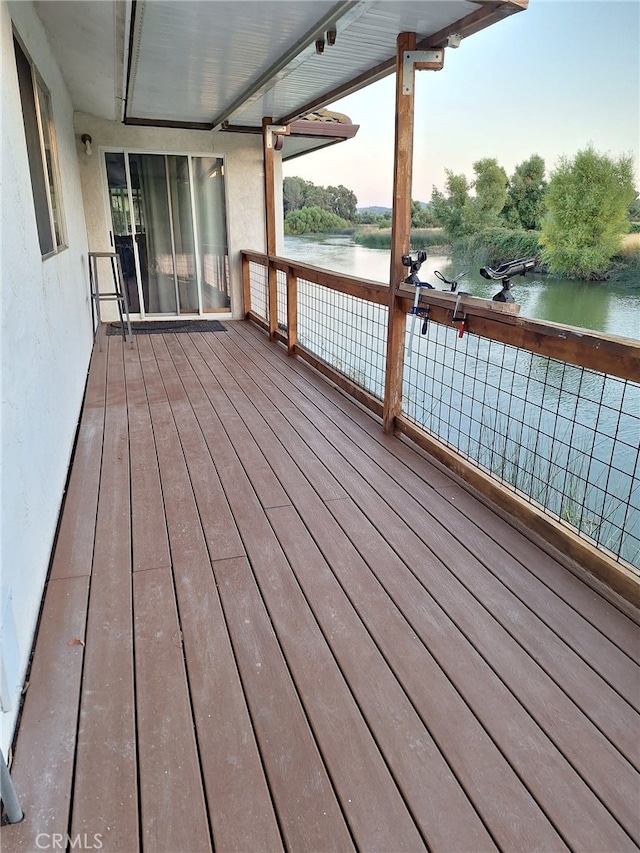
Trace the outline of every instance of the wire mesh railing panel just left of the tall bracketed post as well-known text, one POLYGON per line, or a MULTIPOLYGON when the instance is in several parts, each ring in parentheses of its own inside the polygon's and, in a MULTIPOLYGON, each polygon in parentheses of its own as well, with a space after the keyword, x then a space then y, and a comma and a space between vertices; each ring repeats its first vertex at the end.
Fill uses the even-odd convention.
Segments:
POLYGON ((384 397, 386 306, 298 279, 298 341, 360 385, 384 397))

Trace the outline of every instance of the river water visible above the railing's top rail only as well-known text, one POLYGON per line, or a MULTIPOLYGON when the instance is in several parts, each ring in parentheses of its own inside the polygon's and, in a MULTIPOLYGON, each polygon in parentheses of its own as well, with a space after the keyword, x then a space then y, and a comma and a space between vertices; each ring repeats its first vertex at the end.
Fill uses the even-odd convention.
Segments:
MULTIPOLYGON (((284 255, 334 272, 385 284, 389 281, 389 252, 359 246, 350 237, 285 237, 284 255)), ((461 271, 449 258, 429 254, 419 276, 439 289, 442 285, 433 277, 434 270, 448 278, 461 271)), ((616 285, 529 274, 513 279, 511 287, 523 317, 640 339, 640 281, 635 286, 616 285)), ((490 299, 500 287, 471 269, 460 289, 490 299)))

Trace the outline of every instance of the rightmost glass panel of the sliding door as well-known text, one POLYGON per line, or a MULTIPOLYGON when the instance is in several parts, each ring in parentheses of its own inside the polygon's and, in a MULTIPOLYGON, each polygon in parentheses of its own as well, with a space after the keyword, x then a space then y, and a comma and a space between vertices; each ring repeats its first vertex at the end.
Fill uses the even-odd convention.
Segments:
POLYGON ((228 311, 229 269, 224 166, 219 157, 193 158, 193 189, 203 311, 228 311))

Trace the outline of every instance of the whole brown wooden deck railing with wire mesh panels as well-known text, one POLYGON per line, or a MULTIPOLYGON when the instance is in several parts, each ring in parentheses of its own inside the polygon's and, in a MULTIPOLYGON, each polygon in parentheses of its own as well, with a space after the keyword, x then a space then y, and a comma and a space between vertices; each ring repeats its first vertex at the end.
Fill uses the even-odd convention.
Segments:
MULTIPOLYGON (((528 529, 559 545, 568 556, 605 577, 607 583, 627 597, 638 595, 640 459, 637 450, 633 457, 634 439, 628 436, 621 439, 618 432, 622 423, 627 433, 633 435, 637 427, 640 435, 640 342, 520 317, 508 309, 500 310, 497 303, 469 296, 463 297, 456 314, 455 294, 429 290, 423 292, 419 303, 421 311, 428 314, 426 325, 429 334, 419 344, 423 354, 410 353, 405 358, 404 380, 401 375, 396 380, 399 387, 390 388, 385 365, 379 364, 384 362, 386 335, 389 334, 385 328, 390 303, 386 285, 287 258, 268 258, 256 252, 242 253, 242 268, 247 318, 261 325, 272 339, 284 343, 291 355, 308 361, 381 418, 385 410, 385 394, 398 396, 403 400, 403 406, 394 417, 395 432, 406 434, 467 483, 506 506, 528 529), (322 289, 325 299, 323 302, 314 297, 310 314, 305 300, 308 302, 309 294, 311 291, 315 293, 315 288, 322 289), (282 303, 283 299, 286 305, 279 305, 278 301, 282 303), (338 299, 349 301, 340 307, 338 299), (328 320, 314 316, 324 310, 322 305, 325 303, 330 314, 328 320), (381 313, 375 320, 369 315, 362 319, 358 307, 362 305, 377 306, 375 310, 381 313), (339 319, 336 312, 340 312, 339 319), (458 338, 462 316, 465 319, 464 342, 458 338), (371 322, 374 326, 369 332, 371 322), (314 324, 317 331, 314 331, 314 324), (329 345, 325 347, 326 337, 339 336, 344 336, 345 342, 336 341, 337 349, 331 349, 329 345), (368 352, 373 353, 375 364, 365 364, 361 368, 350 364, 348 356, 343 353, 348 353, 351 348, 357 349, 363 336, 367 338, 366 346, 368 352), (335 352, 339 354, 335 355, 335 352), (495 353, 500 353, 498 361, 501 359, 501 364, 496 364, 495 353), (509 363, 506 367, 505 353, 509 363), (521 363, 525 357, 529 360, 525 370, 530 375, 523 378, 520 375, 524 372, 521 363), (438 369, 434 372, 435 362, 438 362, 438 369), (499 411, 500 404, 487 408, 486 391, 482 400, 474 400, 473 394, 465 391, 473 384, 473 377, 469 374, 470 363, 476 372, 478 365, 482 365, 485 374, 490 370, 492 375, 499 377, 492 386, 493 394, 506 400, 507 414, 499 411), (371 374, 380 370, 387 376, 386 382, 384 378, 381 382, 379 379, 371 380, 371 374), (438 371, 447 373, 446 382, 438 371), (541 371, 546 371, 544 382, 539 378, 541 371), (560 371, 561 380, 558 379, 560 371), (519 383, 525 381, 528 390, 521 393, 512 389, 509 392, 501 387, 501 383, 506 385, 509 382, 513 386, 514 379, 519 383), (582 392, 575 390, 576 384, 578 389, 583 385, 597 385, 600 389, 598 394, 603 399, 595 401, 587 395, 585 403, 580 396, 582 392), (608 432, 597 424, 593 429, 582 424, 580 429, 584 428, 587 436, 585 442, 591 446, 580 448, 574 441, 574 432, 579 438, 580 429, 571 427, 571 441, 558 435, 547 436, 543 431, 544 441, 548 438, 552 443, 550 449, 545 448, 545 456, 538 447, 537 434, 535 439, 527 439, 531 433, 531 424, 527 421, 530 412, 516 416, 516 410, 532 410, 531 400, 524 397, 533 393, 531 388, 538 393, 538 387, 544 387, 547 397, 551 395, 554 398, 558 407, 556 421, 566 419, 567 412, 563 409, 569 406, 567 400, 570 406, 575 406, 575 421, 578 423, 584 419, 580 407, 593 404, 595 420, 604 423, 606 415, 611 422, 608 432), (507 399, 505 394, 511 396, 507 399), (420 395, 429 398, 430 410, 425 406, 421 409, 421 404, 416 403, 420 395), (616 400, 609 404, 607 396, 616 400), (438 409, 435 417, 434 407, 438 409), (478 411, 481 412, 479 416, 478 411), (492 423, 483 422, 483 419, 492 423), (466 432, 462 428, 463 421, 472 424, 466 432), (491 433, 486 441, 483 441, 483 431, 491 433), (514 438, 516 431, 519 435, 514 438), (526 444, 527 440, 530 446, 526 444), (603 468, 606 459, 603 461, 602 458, 606 454, 600 447, 603 444, 607 448, 610 444, 611 448, 606 472, 603 468), (619 460, 616 461, 616 454, 619 456, 621 448, 629 456, 628 473, 621 470, 619 460), (514 462, 514 454, 520 460, 520 468, 531 470, 520 471, 514 462), (582 468, 588 468, 590 476, 598 474, 606 481, 607 489, 613 470, 623 484, 626 497, 620 499, 597 483, 587 482, 588 477, 569 470, 575 466, 577 457, 580 457, 582 468), (563 465, 566 468, 564 473, 563 465), (534 476, 532 472, 536 466, 539 473, 534 476), (552 477, 564 479, 562 489, 550 490, 548 480, 552 477), (537 485, 534 480, 537 480, 537 485), (528 494, 533 486, 537 492, 528 494), (593 494, 589 494, 589 490, 593 494), (552 491, 553 497, 549 497, 552 491), (611 506, 607 509, 607 502, 613 509, 611 506), (598 511, 590 504, 598 504, 598 511)), ((392 323, 400 324, 394 334, 401 335, 403 340, 414 294, 412 287, 400 285, 396 288, 396 302, 400 300, 404 310, 393 312, 392 323)), ((419 332, 417 336, 421 338, 419 332)), ((593 396, 594 392, 588 393, 593 396)), ((538 408, 545 410, 547 402, 541 401, 538 408)), ((636 436, 636 443, 637 440, 636 436)))

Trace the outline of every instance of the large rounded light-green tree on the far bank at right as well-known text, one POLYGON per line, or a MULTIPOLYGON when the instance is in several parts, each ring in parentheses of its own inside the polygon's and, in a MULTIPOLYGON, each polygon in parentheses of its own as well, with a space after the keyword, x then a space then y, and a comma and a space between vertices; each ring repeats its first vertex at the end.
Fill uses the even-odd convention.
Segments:
POLYGON ((556 273, 601 278, 629 230, 635 198, 631 156, 613 159, 589 146, 552 172, 542 222, 542 259, 556 273))

